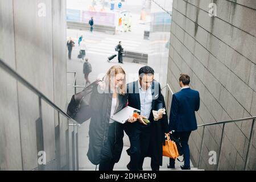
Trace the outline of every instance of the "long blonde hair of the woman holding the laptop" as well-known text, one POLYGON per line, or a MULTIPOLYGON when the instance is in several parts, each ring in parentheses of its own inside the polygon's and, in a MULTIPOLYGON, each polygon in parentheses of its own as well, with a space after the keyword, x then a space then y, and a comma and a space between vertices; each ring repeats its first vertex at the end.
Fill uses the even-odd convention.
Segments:
POLYGON ((104 77, 104 81, 105 81, 106 85, 109 85, 109 88, 111 86, 114 86, 115 85, 115 76, 118 73, 124 74, 125 77, 123 78, 122 85, 118 86, 116 91, 117 91, 117 93, 124 95, 126 93, 126 73, 125 73, 125 70, 121 66, 113 65, 106 73, 106 76, 104 77))

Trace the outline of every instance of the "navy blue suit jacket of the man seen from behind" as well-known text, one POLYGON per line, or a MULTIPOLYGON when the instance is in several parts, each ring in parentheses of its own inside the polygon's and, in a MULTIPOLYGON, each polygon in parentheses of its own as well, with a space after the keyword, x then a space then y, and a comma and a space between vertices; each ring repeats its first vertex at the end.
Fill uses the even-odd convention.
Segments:
POLYGON ((199 92, 185 88, 172 96, 169 129, 177 132, 197 129, 195 111, 199 110, 199 92))

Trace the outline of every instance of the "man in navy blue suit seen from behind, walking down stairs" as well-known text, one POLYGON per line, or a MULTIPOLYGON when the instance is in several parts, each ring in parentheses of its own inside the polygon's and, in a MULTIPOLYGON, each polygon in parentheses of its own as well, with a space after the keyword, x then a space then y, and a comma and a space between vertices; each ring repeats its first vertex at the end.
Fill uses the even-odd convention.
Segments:
MULTIPOLYGON (((200 96, 199 92, 189 88, 190 77, 181 74, 180 92, 172 96, 172 104, 170 111, 170 131, 175 130, 175 137, 180 137, 181 146, 184 155, 184 166, 181 169, 190 169, 190 154, 188 139, 191 131, 197 130, 195 111, 199 110, 200 96)), ((170 158, 168 168, 175 168, 175 160, 170 158)))

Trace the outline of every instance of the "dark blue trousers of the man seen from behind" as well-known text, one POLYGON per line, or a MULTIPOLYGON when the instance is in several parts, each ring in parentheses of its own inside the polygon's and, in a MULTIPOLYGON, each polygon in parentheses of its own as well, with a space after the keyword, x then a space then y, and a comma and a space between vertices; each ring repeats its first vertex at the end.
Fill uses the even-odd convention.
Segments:
MULTIPOLYGON (((181 146, 184 156, 184 166, 190 167, 190 153, 189 153, 189 146, 188 146, 188 139, 191 134, 191 131, 184 131, 184 132, 177 132, 175 137, 180 137, 181 146)), ((175 159, 170 158, 170 166, 175 166, 175 159)))

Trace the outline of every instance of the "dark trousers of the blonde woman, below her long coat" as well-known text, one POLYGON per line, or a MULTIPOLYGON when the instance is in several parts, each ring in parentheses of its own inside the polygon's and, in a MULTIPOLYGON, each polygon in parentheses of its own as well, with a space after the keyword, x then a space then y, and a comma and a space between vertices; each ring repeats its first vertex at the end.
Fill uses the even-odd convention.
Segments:
POLYGON ((115 143, 115 122, 109 125, 108 141, 104 144, 101 153, 99 171, 113 171, 114 168, 114 143, 115 143))

